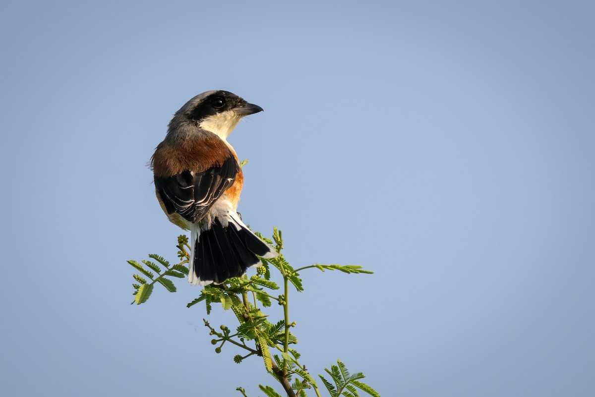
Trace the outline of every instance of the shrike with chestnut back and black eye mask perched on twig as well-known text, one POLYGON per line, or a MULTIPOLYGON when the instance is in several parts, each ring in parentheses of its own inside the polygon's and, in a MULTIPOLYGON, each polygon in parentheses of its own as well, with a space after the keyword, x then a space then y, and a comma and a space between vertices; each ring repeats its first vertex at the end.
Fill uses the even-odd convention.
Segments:
POLYGON ((278 256, 242 221, 237 204, 244 182, 227 137, 258 105, 224 90, 198 94, 170 121, 151 157, 155 194, 168 219, 190 231, 188 281, 221 284, 278 256))

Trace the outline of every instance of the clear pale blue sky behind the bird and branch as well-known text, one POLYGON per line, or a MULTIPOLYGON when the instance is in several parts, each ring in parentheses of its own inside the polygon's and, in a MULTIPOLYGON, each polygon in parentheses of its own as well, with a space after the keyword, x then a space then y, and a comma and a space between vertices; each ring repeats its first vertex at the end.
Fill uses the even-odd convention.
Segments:
POLYGON ((312 374, 595 395, 593 21, 589 1, 5 1, 0 394, 274 385, 214 353, 199 287, 129 304, 126 260, 176 259, 180 234, 146 164, 181 105, 225 89, 265 109, 230 137, 246 222, 281 228, 296 267, 375 272, 302 273, 312 374))

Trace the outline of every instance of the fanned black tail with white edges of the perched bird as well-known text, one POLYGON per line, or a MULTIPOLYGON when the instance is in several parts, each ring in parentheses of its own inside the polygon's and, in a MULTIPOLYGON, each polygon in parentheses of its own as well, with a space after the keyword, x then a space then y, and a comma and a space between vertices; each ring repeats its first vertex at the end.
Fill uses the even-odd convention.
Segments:
POLYGON ((192 233, 190 273, 194 285, 220 284, 230 277, 239 277, 248 267, 258 266, 258 258, 273 258, 277 253, 253 234, 234 213, 228 213, 227 226, 215 218, 211 228, 192 233), (235 216, 234 216, 235 215, 235 216))

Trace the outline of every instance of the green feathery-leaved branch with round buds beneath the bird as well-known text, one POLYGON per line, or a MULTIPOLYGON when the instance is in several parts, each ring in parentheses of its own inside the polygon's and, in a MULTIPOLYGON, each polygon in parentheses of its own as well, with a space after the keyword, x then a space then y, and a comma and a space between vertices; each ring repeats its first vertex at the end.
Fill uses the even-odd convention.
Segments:
MULTIPOLYGON (((273 231, 273 239, 262 237, 269 244, 274 245, 279 254, 273 259, 261 259, 262 266, 256 269, 256 275, 243 275, 240 278, 230 278, 219 285, 207 285, 200 291, 198 298, 187 304, 193 307, 201 302, 205 303, 206 314, 210 314, 214 307, 221 305, 223 310, 233 312, 237 319, 237 326, 234 330, 221 325, 215 329, 206 320, 205 327, 208 327, 209 334, 214 339, 211 343, 215 346, 215 352, 221 352, 224 345, 234 345, 243 349, 245 355, 237 354, 234 362, 242 363, 243 360, 256 355, 261 358, 265 370, 274 377, 286 391, 287 396, 308 397, 306 390, 314 389, 317 396, 320 396, 318 385, 313 376, 300 363, 300 354, 295 350, 297 338, 290 332, 296 326, 295 322, 289 320, 288 295, 289 290, 295 288, 297 292, 303 292, 303 283, 300 273, 305 269, 339 270, 344 273, 372 273, 362 269, 361 266, 339 265, 339 264, 313 264, 311 266, 294 269, 281 254, 283 250, 283 238, 281 231, 277 228, 273 231), (283 285, 277 285, 271 281, 271 270, 278 271, 283 277, 283 285), (293 288, 290 287, 293 285, 293 288), (278 290, 282 288, 281 295, 278 290), (264 309, 277 303, 283 307, 283 319, 270 320, 269 314, 264 309)), ((167 291, 176 292, 175 279, 184 278, 188 274, 186 264, 189 260, 190 247, 186 236, 178 238, 177 256, 180 262, 171 264, 163 257, 151 254, 149 260, 138 263, 129 260, 130 266, 137 270, 133 275, 134 302, 145 303, 151 297, 154 285, 161 284, 167 291)), ((364 377, 361 373, 350 374, 341 361, 336 366, 326 370, 330 379, 320 376, 322 383, 327 388, 331 397, 359 397, 362 390, 372 397, 379 397, 378 393, 360 382, 364 377)), ((268 397, 281 397, 272 387, 260 385, 260 390, 268 397)), ((246 392, 242 387, 238 390, 244 397, 246 392)))

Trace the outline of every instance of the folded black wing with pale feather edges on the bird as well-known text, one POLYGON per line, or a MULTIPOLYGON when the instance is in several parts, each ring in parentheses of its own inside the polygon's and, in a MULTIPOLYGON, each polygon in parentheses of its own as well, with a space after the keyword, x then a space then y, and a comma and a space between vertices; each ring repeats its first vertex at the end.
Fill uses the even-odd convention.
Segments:
POLYGON ((221 166, 203 172, 183 171, 170 178, 155 177, 155 187, 168 214, 179 213, 190 222, 201 220, 212 204, 236 180, 237 160, 230 156, 221 166))

